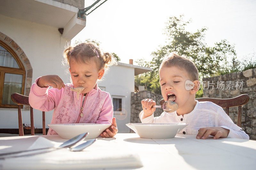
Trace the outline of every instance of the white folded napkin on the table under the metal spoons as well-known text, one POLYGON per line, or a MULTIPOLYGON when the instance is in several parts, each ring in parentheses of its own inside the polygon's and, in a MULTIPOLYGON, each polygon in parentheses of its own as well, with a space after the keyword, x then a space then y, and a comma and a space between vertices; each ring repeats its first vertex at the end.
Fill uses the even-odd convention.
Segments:
MULTIPOLYGON (((60 143, 39 137, 29 149, 57 147, 60 143)), ((0 161, 0 169, 103 169, 142 167, 140 157, 129 153, 125 146, 97 140, 84 151, 60 149, 33 156, 7 158, 0 161)))

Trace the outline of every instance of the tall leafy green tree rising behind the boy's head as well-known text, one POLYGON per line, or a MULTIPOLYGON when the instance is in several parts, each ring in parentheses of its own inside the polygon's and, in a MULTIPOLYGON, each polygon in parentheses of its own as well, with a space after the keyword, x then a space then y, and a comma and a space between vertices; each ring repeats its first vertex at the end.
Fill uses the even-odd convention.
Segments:
MULTIPOLYGON (((199 77, 219 75, 220 70, 227 70, 228 58, 236 58, 234 45, 230 45, 227 40, 221 40, 208 46, 205 41, 205 31, 203 27, 196 32, 186 31, 186 26, 191 20, 184 21, 183 15, 179 17, 170 17, 166 23, 164 34, 167 35, 166 45, 159 46, 152 52, 153 59, 150 62, 140 59, 137 62, 140 66, 146 66, 153 69, 150 73, 144 73, 135 77, 135 82, 146 86, 146 89, 161 94, 158 69, 164 56, 175 51, 179 55, 192 60, 198 71, 199 77)), ((202 93, 201 95, 202 96, 202 93)), ((199 96, 199 97, 200 97, 199 96)))

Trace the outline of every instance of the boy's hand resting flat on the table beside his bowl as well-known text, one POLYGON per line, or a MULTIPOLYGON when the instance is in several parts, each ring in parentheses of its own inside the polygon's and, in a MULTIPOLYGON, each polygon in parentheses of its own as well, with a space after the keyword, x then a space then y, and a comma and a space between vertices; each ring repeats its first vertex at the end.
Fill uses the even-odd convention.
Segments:
POLYGON ((214 136, 213 139, 218 139, 220 137, 228 137, 229 130, 221 127, 207 127, 200 128, 196 139, 206 139, 209 135, 214 136))

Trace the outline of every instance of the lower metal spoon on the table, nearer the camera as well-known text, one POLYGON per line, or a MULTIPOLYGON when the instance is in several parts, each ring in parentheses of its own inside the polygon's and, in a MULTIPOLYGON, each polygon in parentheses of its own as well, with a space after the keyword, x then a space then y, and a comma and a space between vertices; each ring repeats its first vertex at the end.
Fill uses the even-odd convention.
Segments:
MULTIPOLYGON (((94 143, 95 141, 97 141, 97 139, 92 139, 92 140, 89 140, 85 143, 82 143, 74 148, 67 148, 68 151, 72 151, 72 152, 77 152, 77 151, 83 151, 86 147, 90 146, 92 143, 94 143)), ((63 149, 63 148, 51 148, 51 149, 47 149, 46 151, 37 151, 37 152, 33 152, 33 153, 24 153, 21 155, 8 155, 8 156, 5 156, 5 157, 0 157, 0 159, 6 159, 6 158, 17 158, 17 157, 23 157, 23 156, 32 156, 32 155, 37 155, 37 154, 40 154, 40 153, 47 153, 47 152, 52 152, 52 151, 56 151, 56 150, 60 150, 60 149, 63 149)))

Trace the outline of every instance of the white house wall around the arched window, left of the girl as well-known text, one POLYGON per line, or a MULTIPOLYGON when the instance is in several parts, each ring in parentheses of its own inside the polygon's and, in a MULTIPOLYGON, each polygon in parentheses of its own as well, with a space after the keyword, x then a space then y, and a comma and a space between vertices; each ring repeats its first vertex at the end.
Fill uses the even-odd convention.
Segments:
MULTIPOLYGON (((32 82, 47 74, 57 74, 69 82, 61 66, 67 40, 60 38, 57 28, 0 15, 0 32, 14 40, 28 57, 33 68, 32 82)), ((51 122, 52 113, 45 112, 46 124, 51 122)), ((30 111, 22 110, 22 120, 30 124, 30 111)), ((35 109, 34 124, 42 128, 42 112, 35 109)), ((19 128, 17 109, 0 109, 0 128, 19 128)))

